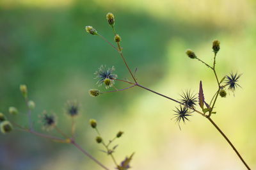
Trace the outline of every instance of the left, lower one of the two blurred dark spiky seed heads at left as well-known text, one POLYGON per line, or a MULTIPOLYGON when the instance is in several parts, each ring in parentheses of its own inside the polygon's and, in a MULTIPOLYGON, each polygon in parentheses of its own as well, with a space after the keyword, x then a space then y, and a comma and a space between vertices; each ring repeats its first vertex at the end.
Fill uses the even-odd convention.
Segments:
POLYGON ((52 130, 57 123, 56 116, 54 114, 43 112, 42 115, 40 115, 40 118, 43 123, 44 130, 52 130))

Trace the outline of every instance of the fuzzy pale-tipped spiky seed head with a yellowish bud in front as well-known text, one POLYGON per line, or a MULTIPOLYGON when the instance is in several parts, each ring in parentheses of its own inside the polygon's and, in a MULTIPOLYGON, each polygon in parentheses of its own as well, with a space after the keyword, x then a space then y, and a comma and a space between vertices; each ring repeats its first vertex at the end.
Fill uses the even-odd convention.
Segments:
POLYGON ((113 86, 114 81, 117 78, 117 75, 113 73, 114 71, 114 66, 108 69, 106 68, 106 66, 100 66, 99 70, 94 73, 96 75, 95 79, 99 79, 97 84, 101 86, 104 83, 106 85, 106 88, 113 86))

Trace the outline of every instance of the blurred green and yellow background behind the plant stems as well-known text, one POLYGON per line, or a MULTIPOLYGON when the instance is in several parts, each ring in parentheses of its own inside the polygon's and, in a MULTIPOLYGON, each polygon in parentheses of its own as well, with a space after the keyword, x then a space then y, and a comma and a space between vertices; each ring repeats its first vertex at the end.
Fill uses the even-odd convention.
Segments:
MULTIPOLYGON (((212 119, 227 134, 246 162, 256 168, 255 54, 256 2, 253 0, 1 0, 0 1, 0 111, 19 108, 11 117, 27 125, 26 107, 19 85, 27 84, 38 114, 58 115, 58 125, 70 133, 65 102, 77 100, 81 115, 76 120, 77 141, 108 167, 111 158, 100 152, 90 118, 99 123, 105 139, 118 130, 115 156, 120 162, 135 151, 132 169, 245 169, 216 129, 194 114, 179 130, 173 118, 177 104, 134 88, 92 98, 88 89, 98 88, 93 73, 100 65, 116 68, 121 79, 131 78, 124 63, 107 43, 88 35, 92 25, 113 42, 106 13, 113 12, 116 29, 132 70, 143 86, 173 98, 191 89, 197 93, 202 80, 206 100, 216 90, 211 70, 186 57, 186 49, 212 63, 212 40, 221 42, 218 75, 243 73, 234 97, 219 98, 212 119)), ((116 83, 118 88, 127 84, 116 83)), ((104 87, 100 87, 105 90, 104 87)), ((56 134, 56 132, 50 132, 56 134)), ((0 169, 100 169, 68 144, 52 143, 15 131, 0 134, 0 169)))

